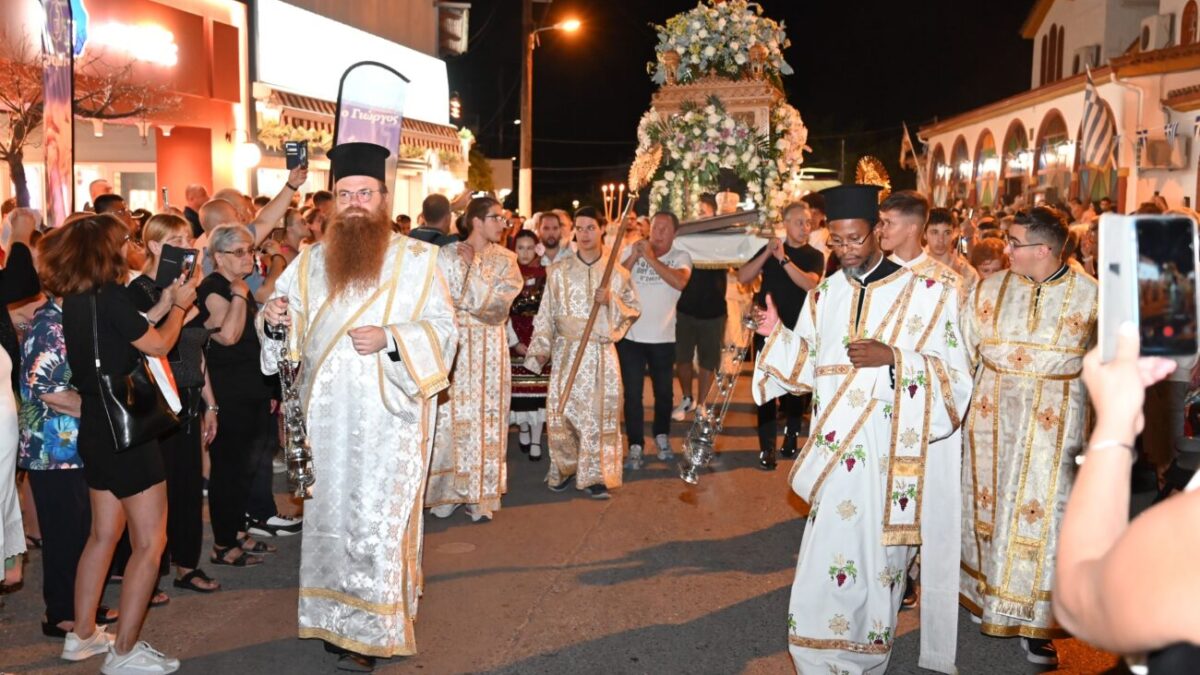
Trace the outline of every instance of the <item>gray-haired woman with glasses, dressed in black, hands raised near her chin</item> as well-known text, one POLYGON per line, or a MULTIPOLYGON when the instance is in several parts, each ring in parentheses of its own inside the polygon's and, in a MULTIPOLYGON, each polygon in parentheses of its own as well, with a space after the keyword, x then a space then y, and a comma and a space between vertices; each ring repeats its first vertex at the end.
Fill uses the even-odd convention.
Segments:
POLYGON ((206 328, 208 368, 220 414, 217 435, 209 446, 209 516, 214 565, 258 565, 257 555, 274 546, 245 533, 246 502, 263 438, 275 430, 271 386, 258 366, 257 306, 245 277, 254 265, 254 239, 241 225, 224 225, 209 234, 212 274, 196 293, 199 315, 193 325, 206 328))

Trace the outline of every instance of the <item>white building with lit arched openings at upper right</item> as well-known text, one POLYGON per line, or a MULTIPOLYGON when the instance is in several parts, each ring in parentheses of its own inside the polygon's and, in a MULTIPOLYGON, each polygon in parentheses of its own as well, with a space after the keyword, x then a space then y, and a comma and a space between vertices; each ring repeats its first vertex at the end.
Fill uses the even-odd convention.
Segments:
POLYGON ((1195 0, 1038 0, 1030 90, 922 127, 937 205, 1110 198, 1121 211, 1154 195, 1194 207, 1200 144, 1195 0), (1078 147, 1086 71, 1110 110, 1112 161, 1078 147))

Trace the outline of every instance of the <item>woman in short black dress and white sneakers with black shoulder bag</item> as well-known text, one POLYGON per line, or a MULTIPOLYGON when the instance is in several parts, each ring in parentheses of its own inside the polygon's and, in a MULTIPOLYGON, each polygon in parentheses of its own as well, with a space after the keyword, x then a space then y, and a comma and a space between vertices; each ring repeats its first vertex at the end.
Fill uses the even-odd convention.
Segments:
POLYGON ((115 217, 84 215, 47 234, 37 261, 47 292, 62 298, 71 383, 82 398, 78 450, 92 513, 76 573, 74 631, 67 633, 62 658, 107 653, 101 673, 108 675, 179 669, 178 659, 138 641, 167 538, 166 471, 155 432, 169 430, 173 419, 143 356, 166 356, 175 345, 196 288, 184 279, 169 286, 167 319, 151 327, 122 286, 128 241, 128 228, 115 217), (95 625, 95 616, 126 524, 133 555, 114 638, 95 625))

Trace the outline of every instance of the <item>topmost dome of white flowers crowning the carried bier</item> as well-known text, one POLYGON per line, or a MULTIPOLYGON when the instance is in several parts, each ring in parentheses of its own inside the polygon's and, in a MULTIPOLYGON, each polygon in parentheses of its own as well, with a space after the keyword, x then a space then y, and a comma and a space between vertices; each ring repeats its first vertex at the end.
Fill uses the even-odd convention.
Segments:
POLYGON ((648 65, 653 79, 665 84, 667 68, 674 67, 674 82, 686 84, 709 72, 742 79, 749 77, 746 65, 754 61, 751 49, 766 47, 763 71, 776 84, 780 76, 792 74, 784 60, 784 49, 791 46, 782 23, 762 16, 762 6, 746 0, 726 0, 713 4, 702 1, 694 10, 676 14, 664 25, 654 25, 659 34, 655 52, 659 59, 648 65), (673 52, 678 65, 671 66, 662 58, 673 52))

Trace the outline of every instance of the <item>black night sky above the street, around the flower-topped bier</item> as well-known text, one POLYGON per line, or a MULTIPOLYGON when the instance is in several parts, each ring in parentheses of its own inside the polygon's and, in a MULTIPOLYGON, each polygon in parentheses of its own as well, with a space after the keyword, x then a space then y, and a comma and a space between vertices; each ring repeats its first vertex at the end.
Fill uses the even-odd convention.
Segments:
MULTIPOLYGON (((838 169, 841 141, 853 179, 859 156, 887 165, 893 185, 900 123, 917 127, 1030 88, 1032 43, 1019 31, 1032 0, 847 2, 762 0, 782 22, 796 70, 788 102, 809 127, 806 166, 838 169), (869 10, 866 8, 869 7, 869 10)), ((637 120, 655 84, 647 74, 656 42, 652 23, 696 0, 556 0, 535 4, 534 20, 582 19, 575 34, 542 32, 534 52, 534 207, 600 202, 601 183, 624 180, 637 147, 637 120)), ((469 50, 448 60, 463 124, 491 157, 520 155, 521 1, 473 0, 469 50)), ((514 187, 516 179, 514 178, 514 187)), ((516 193, 509 201, 515 205, 516 193)))

